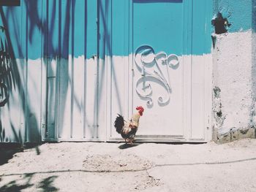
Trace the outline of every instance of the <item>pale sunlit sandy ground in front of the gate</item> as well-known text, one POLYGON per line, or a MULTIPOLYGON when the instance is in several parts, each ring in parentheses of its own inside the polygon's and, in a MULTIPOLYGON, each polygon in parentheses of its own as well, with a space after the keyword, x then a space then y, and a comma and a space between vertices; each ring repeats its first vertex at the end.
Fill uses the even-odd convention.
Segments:
POLYGON ((256 140, 46 143, 1 164, 0 191, 256 191, 256 140))

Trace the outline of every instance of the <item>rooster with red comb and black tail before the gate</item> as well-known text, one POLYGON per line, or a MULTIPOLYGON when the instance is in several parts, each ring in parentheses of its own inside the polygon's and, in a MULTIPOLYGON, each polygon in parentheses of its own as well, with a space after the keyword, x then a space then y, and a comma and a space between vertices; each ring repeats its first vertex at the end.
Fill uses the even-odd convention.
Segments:
POLYGON ((129 121, 124 120, 124 117, 118 114, 114 123, 118 134, 121 134, 124 141, 126 143, 129 142, 131 145, 135 139, 135 134, 139 127, 140 116, 142 116, 144 112, 144 109, 141 106, 136 107, 136 110, 138 110, 138 112, 132 115, 132 118, 129 121))

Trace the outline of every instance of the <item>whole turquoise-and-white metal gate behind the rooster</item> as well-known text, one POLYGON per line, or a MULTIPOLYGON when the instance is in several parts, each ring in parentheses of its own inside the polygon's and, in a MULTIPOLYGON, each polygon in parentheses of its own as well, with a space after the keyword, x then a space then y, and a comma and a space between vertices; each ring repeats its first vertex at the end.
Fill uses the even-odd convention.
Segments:
POLYGON ((137 105, 136 139, 210 140, 211 13, 204 0, 0 7, 11 66, 1 77, 0 141, 121 139, 113 121, 137 105))

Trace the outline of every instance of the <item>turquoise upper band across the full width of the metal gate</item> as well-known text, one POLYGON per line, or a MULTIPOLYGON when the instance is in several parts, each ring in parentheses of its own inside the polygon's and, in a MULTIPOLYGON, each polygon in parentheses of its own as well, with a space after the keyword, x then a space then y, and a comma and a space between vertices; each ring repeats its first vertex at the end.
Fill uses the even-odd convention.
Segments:
POLYGON ((211 9, 211 1, 203 0, 24 0, 20 7, 3 7, 1 22, 15 58, 104 58, 129 55, 140 45, 203 55, 211 52, 211 9), (189 31, 192 52, 182 43, 189 31))

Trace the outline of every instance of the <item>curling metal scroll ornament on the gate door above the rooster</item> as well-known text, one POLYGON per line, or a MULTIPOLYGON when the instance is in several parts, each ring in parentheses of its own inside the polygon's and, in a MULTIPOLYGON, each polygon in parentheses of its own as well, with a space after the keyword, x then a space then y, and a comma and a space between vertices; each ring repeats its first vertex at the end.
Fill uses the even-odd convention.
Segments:
POLYGON ((135 51, 135 64, 140 71, 141 77, 136 82, 136 92, 147 100, 146 104, 150 107, 153 104, 152 87, 148 82, 158 82, 167 91, 165 96, 159 96, 159 105, 165 105, 170 101, 170 77, 168 68, 178 67, 178 56, 175 54, 167 55, 165 52, 154 53, 154 49, 149 45, 138 47, 135 51), (165 66, 165 75, 160 66, 165 66), (167 74, 167 77, 165 77, 167 74))

